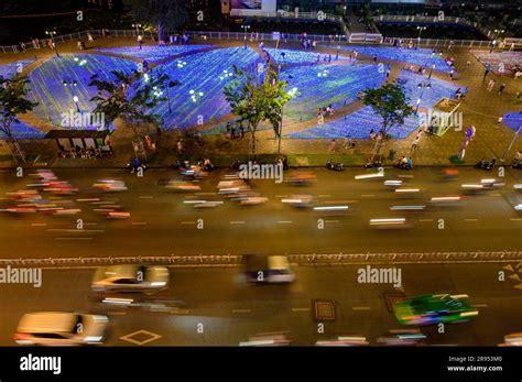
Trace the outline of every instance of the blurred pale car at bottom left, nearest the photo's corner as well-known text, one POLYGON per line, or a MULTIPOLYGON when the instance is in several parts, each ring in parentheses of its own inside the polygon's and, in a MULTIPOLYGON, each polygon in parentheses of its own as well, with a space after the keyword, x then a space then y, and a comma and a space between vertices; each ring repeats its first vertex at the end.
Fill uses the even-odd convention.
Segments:
POLYGON ((66 312, 25 314, 13 336, 18 345, 79 346, 101 343, 107 316, 66 312))

